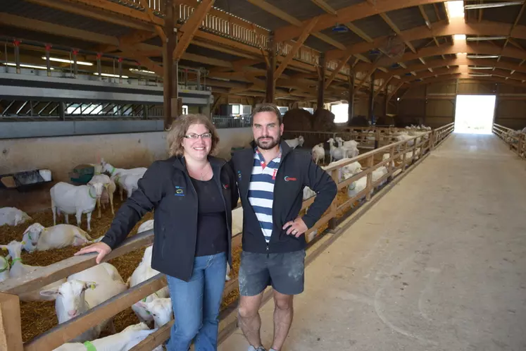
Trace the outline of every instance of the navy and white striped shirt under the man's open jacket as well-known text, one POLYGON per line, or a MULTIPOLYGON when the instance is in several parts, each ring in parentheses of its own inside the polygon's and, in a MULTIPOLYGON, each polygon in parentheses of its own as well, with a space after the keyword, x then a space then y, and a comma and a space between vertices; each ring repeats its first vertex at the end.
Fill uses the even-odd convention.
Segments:
POLYGON ((268 164, 258 148, 254 149, 254 164, 249 185, 249 202, 252 205, 259 226, 265 236, 265 241, 270 242, 273 228, 272 208, 274 202, 274 184, 277 168, 280 166, 282 150, 280 154, 268 164))

